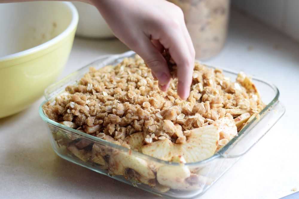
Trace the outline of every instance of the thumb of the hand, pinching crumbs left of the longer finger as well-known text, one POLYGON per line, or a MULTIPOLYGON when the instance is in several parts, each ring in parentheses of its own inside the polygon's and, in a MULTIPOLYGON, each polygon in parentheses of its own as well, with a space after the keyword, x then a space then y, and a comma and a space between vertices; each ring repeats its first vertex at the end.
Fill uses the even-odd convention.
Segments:
POLYGON ((138 46, 138 49, 133 50, 138 52, 152 70, 153 77, 158 79, 160 89, 162 91, 166 91, 169 86, 171 76, 167 63, 159 51, 163 46, 156 41, 155 44, 153 44, 146 36, 141 39, 140 45, 138 46))

